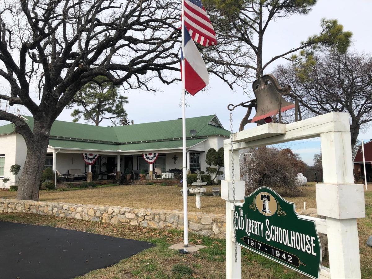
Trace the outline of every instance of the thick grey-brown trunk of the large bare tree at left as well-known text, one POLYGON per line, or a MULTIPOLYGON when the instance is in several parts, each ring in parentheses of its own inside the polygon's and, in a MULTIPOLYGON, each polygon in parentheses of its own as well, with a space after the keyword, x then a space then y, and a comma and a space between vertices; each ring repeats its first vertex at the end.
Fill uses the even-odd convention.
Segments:
MULTIPOLYGON (((40 134, 40 133, 38 133, 40 134)), ((17 199, 39 200, 41 174, 47 156, 49 137, 38 136, 27 144, 25 166, 19 181, 17 199)))

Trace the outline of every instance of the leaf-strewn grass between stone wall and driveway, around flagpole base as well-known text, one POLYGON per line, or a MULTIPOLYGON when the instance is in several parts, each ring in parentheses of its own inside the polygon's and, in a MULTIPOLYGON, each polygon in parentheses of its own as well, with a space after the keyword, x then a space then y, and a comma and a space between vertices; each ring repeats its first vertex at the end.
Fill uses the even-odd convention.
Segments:
MULTIPOLYGON (((79 221, 70 218, 31 214, 0 213, 0 221, 45 225, 86 231, 113 237, 149 241, 155 244, 148 250, 104 269, 93 270, 79 279, 111 278, 225 278, 225 240, 189 234, 189 243, 206 248, 195 254, 181 255, 168 247, 183 241, 183 232, 140 228, 131 225, 112 225, 79 221)), ((246 249, 242 250, 243 278, 305 278, 294 270, 272 262, 246 249)))

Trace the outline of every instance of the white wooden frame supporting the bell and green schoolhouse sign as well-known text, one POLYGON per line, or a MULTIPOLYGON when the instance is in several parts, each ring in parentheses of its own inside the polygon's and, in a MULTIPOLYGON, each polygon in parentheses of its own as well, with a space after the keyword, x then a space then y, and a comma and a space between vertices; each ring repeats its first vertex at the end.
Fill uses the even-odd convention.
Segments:
MULTIPOLYGON (((330 268, 322 266, 320 278, 360 278, 357 218, 365 217, 364 189, 354 184, 349 115, 331 112, 291 124, 269 123, 233 135, 235 202, 244 199, 240 181, 239 150, 282 142, 321 138, 324 183, 316 185, 317 212, 325 219, 301 216, 316 222, 327 234, 330 268)), ((226 201, 226 278, 241 278, 241 247, 235 250, 231 142, 224 141, 225 180, 221 197, 226 201), (235 253, 236 259, 235 262, 235 253)), ((247 275, 249 276, 249 275, 247 275)))

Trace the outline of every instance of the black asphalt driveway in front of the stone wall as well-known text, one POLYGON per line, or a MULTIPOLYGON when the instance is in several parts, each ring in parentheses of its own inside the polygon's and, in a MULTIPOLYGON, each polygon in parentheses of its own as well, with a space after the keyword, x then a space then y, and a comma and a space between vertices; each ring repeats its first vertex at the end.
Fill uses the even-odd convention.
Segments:
POLYGON ((0 222, 0 279, 73 278, 151 246, 107 235, 0 222))

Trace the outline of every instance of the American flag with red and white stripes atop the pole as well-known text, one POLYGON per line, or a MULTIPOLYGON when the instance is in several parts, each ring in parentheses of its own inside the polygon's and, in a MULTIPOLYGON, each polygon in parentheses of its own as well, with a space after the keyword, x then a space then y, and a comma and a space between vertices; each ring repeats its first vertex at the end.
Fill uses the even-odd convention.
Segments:
POLYGON ((216 33, 205 12, 201 0, 184 0, 185 26, 191 38, 198 44, 208 47, 216 45, 216 33))

